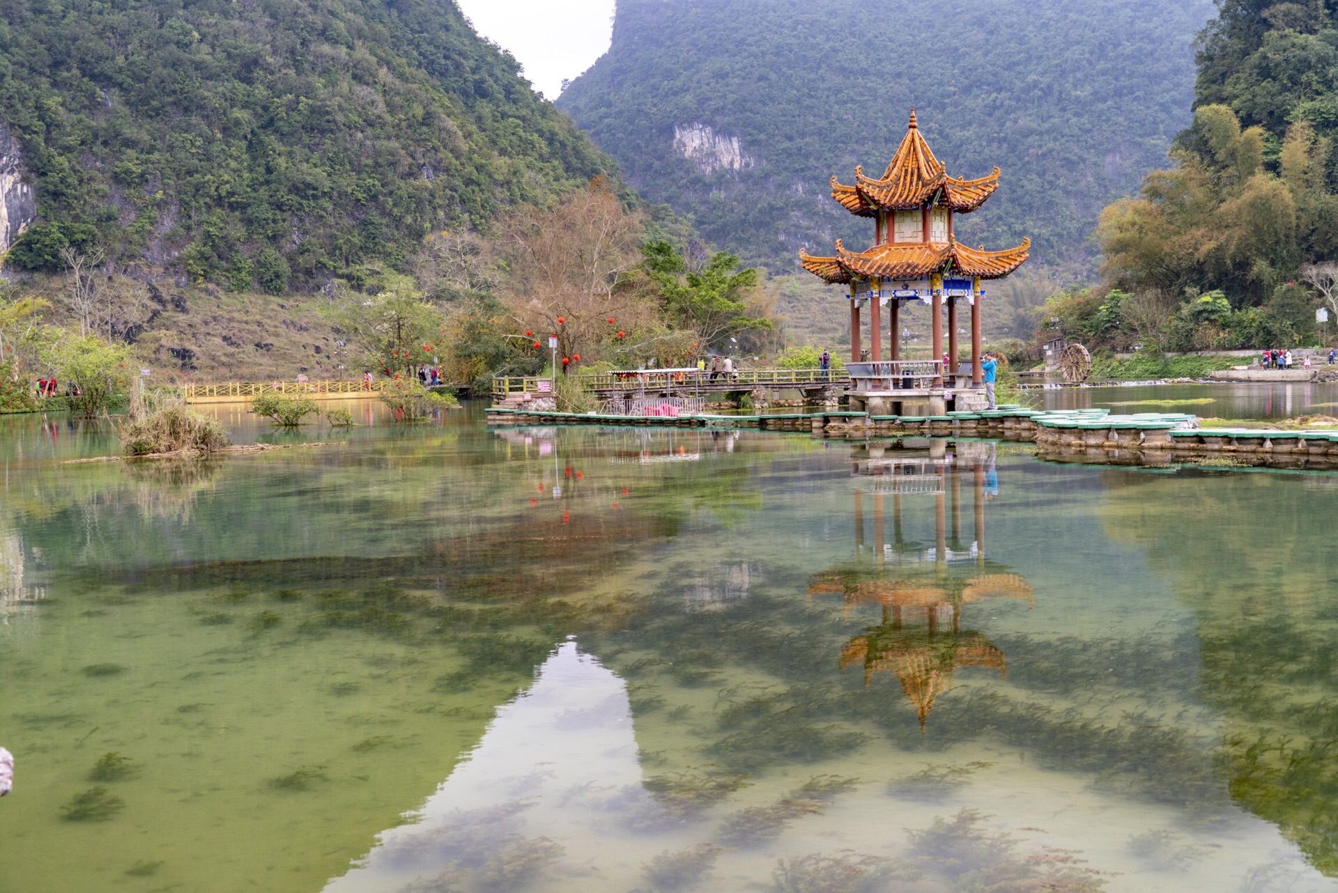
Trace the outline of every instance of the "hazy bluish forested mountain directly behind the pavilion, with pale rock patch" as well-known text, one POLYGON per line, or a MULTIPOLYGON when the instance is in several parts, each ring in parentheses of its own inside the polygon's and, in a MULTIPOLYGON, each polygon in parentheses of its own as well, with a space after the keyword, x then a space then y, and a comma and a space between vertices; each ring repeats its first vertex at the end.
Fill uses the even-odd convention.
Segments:
POLYGON ((949 171, 1004 168, 963 239, 1089 265, 1097 214, 1188 123, 1207 0, 618 0, 613 45, 559 99, 649 199, 788 269, 871 238, 828 198, 880 175, 911 104, 949 171))

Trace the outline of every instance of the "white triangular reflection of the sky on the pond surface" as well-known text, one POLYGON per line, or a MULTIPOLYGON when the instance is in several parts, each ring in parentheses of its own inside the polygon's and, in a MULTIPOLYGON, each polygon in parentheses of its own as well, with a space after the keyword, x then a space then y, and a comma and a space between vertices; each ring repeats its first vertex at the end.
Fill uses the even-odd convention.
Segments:
POLYGON ((561 858, 567 874, 607 870, 621 819, 646 806, 640 782, 626 687, 569 642, 498 710, 415 823, 385 832, 326 890, 399 890, 443 872, 492 877, 524 858, 561 858))

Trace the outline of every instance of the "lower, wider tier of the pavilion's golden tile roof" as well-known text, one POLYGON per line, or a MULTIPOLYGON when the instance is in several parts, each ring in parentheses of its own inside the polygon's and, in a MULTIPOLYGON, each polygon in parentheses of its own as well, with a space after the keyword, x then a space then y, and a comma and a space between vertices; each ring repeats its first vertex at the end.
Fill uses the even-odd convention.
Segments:
POLYGON ((1017 270, 1030 257, 1032 241, 1014 249, 985 251, 961 242, 895 242, 875 245, 867 251, 847 251, 836 239, 836 257, 799 253, 805 270, 828 283, 851 279, 921 279, 931 273, 999 279, 1017 270))

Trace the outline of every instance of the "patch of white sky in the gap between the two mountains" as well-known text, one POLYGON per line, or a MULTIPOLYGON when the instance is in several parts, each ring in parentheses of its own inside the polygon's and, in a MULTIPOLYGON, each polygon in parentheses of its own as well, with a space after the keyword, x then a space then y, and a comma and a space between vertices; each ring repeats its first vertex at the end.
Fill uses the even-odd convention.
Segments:
POLYGON ((511 51, 549 99, 609 48, 614 0, 456 0, 480 35, 511 51))

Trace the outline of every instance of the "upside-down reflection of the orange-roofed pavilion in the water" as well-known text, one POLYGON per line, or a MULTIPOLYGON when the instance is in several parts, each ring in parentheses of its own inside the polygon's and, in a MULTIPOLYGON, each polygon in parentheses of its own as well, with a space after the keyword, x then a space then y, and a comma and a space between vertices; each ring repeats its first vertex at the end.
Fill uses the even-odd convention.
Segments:
POLYGON ((856 448, 854 457, 855 560, 812 578, 809 596, 839 595, 847 615, 882 607, 882 623, 842 648, 840 668, 864 668, 864 684, 890 672, 925 729, 934 700, 953 687, 954 671, 987 667, 1006 675, 1004 652, 983 634, 962 630, 962 610, 999 599, 1034 604, 1032 586, 985 551, 985 504, 998 492, 994 445, 931 441, 927 451, 856 448), (962 481, 970 476, 974 539, 962 541, 962 481), (864 503, 872 492, 874 541, 866 541, 864 503), (903 496, 934 499, 934 545, 907 540, 903 496), (892 541, 884 540, 891 499, 892 541))

